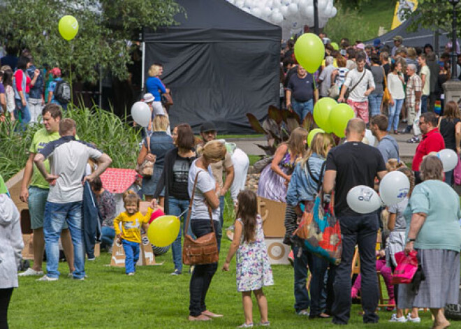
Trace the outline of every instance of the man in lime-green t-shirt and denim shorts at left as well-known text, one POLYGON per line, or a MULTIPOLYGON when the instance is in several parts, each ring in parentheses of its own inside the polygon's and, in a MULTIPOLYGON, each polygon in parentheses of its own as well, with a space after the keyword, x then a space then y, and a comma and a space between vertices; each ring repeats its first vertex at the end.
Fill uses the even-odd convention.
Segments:
MULTIPOLYGON (((22 202, 29 203, 29 212, 31 216, 31 228, 34 230, 34 265, 27 269, 26 272, 20 273, 20 276, 41 276, 43 275, 42 260, 45 251, 45 239, 43 237, 43 214, 45 213, 45 203, 50 190, 50 185, 43 178, 34 164, 34 157, 52 140, 57 140, 59 136, 59 122, 62 118, 61 107, 57 104, 50 103, 42 110, 44 128, 38 130, 31 147, 29 148, 29 159, 27 159, 24 168, 24 177, 22 178, 20 199, 22 202), (30 182, 30 185, 29 185, 30 182), (29 186, 29 189, 27 188, 29 186)), ((45 161, 45 167, 50 170, 50 163, 45 161)), ((71 233, 64 224, 61 231, 61 242, 64 248, 64 254, 69 267, 69 272, 73 272, 73 244, 71 233)))

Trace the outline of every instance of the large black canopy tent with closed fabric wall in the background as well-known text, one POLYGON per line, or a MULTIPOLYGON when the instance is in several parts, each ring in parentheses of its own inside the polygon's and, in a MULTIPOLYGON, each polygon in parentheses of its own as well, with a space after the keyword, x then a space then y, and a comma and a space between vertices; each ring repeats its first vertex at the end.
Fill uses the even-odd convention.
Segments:
POLYGON ((212 121, 219 133, 249 133, 247 112, 258 119, 279 104, 281 28, 226 0, 176 0, 185 13, 179 24, 146 29, 144 81, 149 66, 161 63, 162 82, 174 105, 172 126, 212 121))

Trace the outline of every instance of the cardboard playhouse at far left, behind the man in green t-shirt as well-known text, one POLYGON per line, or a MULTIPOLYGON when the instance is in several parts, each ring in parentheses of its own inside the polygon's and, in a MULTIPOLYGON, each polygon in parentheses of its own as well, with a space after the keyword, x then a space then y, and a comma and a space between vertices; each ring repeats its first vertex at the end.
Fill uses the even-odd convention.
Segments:
POLYGON ((31 219, 29 214, 29 205, 20 200, 22 177, 24 176, 24 169, 11 177, 6 182, 6 188, 10 192, 11 200, 15 203, 17 210, 21 215, 21 231, 22 240, 24 241, 24 249, 22 249, 22 258, 34 259, 34 248, 32 247, 32 239, 34 237, 31 229, 31 219))

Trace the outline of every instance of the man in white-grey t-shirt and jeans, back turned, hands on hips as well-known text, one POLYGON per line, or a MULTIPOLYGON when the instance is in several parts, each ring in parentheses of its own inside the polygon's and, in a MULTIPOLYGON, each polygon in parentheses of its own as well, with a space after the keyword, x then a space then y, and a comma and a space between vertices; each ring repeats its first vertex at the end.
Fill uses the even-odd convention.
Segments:
POLYGON ((49 142, 36 154, 34 162, 50 184, 45 205, 43 233, 47 255, 47 274, 39 281, 57 281, 59 279, 59 235, 66 221, 71 231, 74 252, 73 278, 85 279, 85 246, 82 226, 82 182, 92 182, 110 166, 112 160, 107 154, 80 140, 75 140, 76 128, 73 119, 59 122, 59 140, 49 142), (85 176, 89 158, 98 163, 91 175, 85 176), (49 159, 50 173, 43 161, 49 159), (84 177, 85 176, 85 177, 84 177))

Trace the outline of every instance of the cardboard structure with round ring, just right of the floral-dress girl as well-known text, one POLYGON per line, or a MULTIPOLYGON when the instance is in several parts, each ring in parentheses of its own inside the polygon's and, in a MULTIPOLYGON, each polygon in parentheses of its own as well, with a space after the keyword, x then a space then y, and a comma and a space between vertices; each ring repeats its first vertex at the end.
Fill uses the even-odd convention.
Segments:
POLYGON ((290 246, 283 243, 285 236, 286 203, 258 196, 258 213, 263 219, 265 244, 271 264, 288 265, 290 246))

